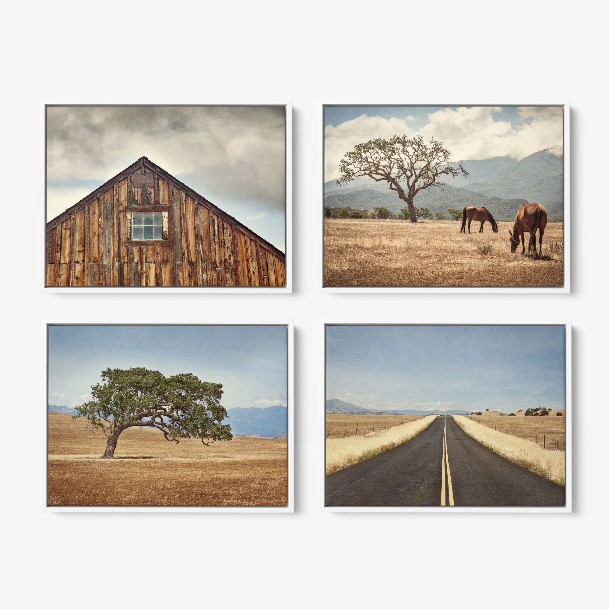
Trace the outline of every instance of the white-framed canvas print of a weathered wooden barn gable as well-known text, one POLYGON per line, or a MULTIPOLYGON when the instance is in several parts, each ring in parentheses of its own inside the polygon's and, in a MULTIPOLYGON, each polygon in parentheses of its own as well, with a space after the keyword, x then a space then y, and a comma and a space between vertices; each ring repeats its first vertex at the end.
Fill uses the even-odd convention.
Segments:
POLYGON ((290 104, 42 112, 43 291, 291 292, 290 104))

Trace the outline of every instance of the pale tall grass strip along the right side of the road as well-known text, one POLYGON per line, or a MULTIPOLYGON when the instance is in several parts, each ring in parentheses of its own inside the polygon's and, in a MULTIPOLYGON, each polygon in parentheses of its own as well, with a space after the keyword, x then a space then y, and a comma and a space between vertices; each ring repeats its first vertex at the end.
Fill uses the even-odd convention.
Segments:
POLYGON ((505 435, 474 423, 461 415, 452 415, 463 431, 505 459, 526 467, 558 484, 565 485, 565 452, 548 451, 513 435, 505 435))

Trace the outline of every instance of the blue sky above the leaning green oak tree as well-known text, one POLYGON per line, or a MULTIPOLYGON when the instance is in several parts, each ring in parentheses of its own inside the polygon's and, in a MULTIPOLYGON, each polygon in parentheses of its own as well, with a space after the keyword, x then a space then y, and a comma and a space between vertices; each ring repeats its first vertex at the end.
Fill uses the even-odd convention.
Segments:
POLYGON ((287 403, 286 326, 49 326, 49 404, 77 406, 106 368, 191 372, 227 408, 287 403))

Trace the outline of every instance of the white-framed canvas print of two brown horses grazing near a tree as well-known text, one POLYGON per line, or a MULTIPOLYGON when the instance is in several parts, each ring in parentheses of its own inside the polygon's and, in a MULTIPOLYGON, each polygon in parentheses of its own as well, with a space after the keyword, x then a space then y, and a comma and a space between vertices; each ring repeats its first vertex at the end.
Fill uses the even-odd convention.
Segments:
POLYGON ((319 128, 320 291, 569 292, 565 102, 325 102, 319 128))

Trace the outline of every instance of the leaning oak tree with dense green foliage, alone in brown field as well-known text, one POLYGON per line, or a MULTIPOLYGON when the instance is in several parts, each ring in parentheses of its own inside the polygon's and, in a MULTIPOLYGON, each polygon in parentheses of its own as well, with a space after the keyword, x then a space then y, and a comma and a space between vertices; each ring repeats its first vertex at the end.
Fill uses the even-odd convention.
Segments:
POLYGON ((205 446, 232 440, 222 384, 203 382, 190 373, 163 376, 146 368, 104 370, 102 384, 91 387, 91 400, 72 418, 86 417, 91 431, 101 430, 107 445, 101 459, 113 459, 119 435, 130 427, 152 427, 166 440, 200 438, 205 446))

